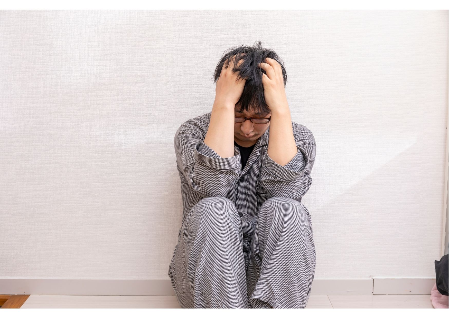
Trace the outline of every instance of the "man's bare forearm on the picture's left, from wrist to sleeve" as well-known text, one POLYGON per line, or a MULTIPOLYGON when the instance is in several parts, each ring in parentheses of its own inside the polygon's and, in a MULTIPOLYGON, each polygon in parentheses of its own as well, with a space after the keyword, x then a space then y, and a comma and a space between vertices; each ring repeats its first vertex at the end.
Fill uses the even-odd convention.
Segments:
POLYGON ((220 157, 234 156, 235 105, 215 101, 204 144, 220 157))

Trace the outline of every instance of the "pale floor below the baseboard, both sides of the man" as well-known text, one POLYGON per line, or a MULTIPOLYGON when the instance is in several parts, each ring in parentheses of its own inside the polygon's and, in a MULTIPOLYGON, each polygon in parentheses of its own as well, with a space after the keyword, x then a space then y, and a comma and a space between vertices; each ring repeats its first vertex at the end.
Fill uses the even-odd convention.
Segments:
MULTIPOLYGON (((175 296, 30 295, 20 308, 180 308, 175 296)), ((311 295, 306 308, 433 308, 430 295, 311 295)))

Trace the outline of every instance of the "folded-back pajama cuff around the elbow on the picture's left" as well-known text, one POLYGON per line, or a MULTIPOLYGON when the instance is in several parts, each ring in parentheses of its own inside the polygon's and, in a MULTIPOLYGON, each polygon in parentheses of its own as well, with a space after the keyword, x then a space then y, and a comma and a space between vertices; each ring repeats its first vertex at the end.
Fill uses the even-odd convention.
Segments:
POLYGON ((194 158, 205 166, 219 170, 233 170, 241 165, 240 151, 234 148, 234 156, 222 158, 203 141, 195 144, 194 158))

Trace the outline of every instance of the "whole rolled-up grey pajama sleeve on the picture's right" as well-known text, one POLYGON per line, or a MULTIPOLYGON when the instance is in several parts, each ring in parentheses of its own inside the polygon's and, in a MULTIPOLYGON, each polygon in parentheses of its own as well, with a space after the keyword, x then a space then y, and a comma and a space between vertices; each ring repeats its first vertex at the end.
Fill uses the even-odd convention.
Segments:
MULTIPOLYGON (((304 126, 303 126, 304 127, 304 126)), ((311 131, 305 127, 294 133, 298 152, 285 166, 281 166, 264 154, 264 165, 257 187, 264 199, 282 196, 301 202, 312 185, 316 143, 311 131)))

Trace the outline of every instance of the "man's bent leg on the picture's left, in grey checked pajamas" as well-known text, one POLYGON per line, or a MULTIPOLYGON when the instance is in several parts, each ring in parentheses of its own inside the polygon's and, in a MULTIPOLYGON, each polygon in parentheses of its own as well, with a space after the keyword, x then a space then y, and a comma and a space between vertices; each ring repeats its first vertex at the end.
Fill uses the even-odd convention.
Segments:
POLYGON ((232 201, 208 197, 191 209, 168 271, 181 308, 248 308, 242 244, 232 201))

